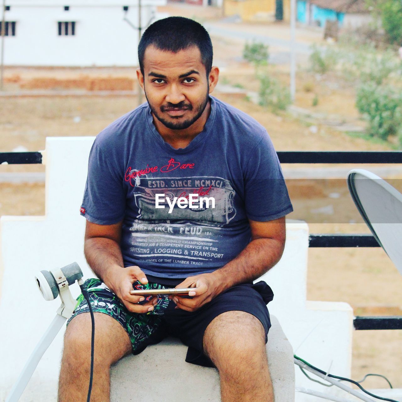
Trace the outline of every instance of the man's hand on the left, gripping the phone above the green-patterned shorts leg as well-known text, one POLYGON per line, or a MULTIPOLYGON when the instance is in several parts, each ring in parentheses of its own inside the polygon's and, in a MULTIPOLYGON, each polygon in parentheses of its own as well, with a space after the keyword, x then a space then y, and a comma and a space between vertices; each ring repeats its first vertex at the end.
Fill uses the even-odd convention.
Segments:
POLYGON ((158 301, 158 297, 152 297, 144 304, 138 304, 139 301, 145 300, 144 296, 131 295, 133 283, 140 281, 143 285, 148 283, 148 279, 144 272, 139 267, 119 267, 110 268, 104 282, 109 289, 124 304, 127 310, 131 313, 147 313, 154 310, 154 305, 158 301))

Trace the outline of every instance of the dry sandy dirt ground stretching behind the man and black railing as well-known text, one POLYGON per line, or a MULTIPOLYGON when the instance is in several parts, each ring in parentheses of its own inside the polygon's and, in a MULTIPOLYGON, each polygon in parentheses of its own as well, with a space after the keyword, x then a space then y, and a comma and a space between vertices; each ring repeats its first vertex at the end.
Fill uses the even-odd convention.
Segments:
MULTIPOLYGON (((161 11, 169 12, 169 7, 161 11)), ((183 10, 181 15, 193 16, 191 8, 183 10)), ((200 18, 220 18, 216 10, 207 10, 211 10, 210 14, 200 18)), ((255 30, 256 26, 250 29, 255 30)), ((287 27, 281 26, 268 29, 270 35, 278 38, 286 38, 288 32, 287 27)), ((317 35, 314 33, 310 35, 305 31, 299 32, 299 37, 305 43, 317 41, 317 35)), ((317 131, 312 132, 310 124, 289 114, 276 115, 242 96, 228 94, 224 89, 219 91, 219 86, 223 88, 228 84, 237 84, 247 90, 257 91, 258 82, 254 69, 238 61, 242 53, 238 42, 216 37, 212 40, 215 54, 220 55, 218 61, 222 62, 220 82, 213 95, 245 111, 266 127, 277 151, 392 149, 390 144, 367 142, 328 125, 317 124, 317 131)), ((276 68, 271 72, 284 84, 288 82, 286 68, 276 68)), ((21 80, 75 79, 80 75, 134 78, 135 68, 6 68, 5 76, 12 75, 18 75, 21 80)), ((8 82, 5 89, 18 90, 19 86, 16 82, 8 82)), ((138 98, 135 94, 0 97, 0 152, 12 151, 17 147, 24 147, 29 151, 43 150, 45 138, 49 136, 96 135, 109 123, 134 109, 137 104, 138 98)), ((346 120, 359 121, 353 88, 325 85, 304 70, 299 70, 297 74, 295 105, 312 112, 335 114, 343 116, 346 120), (306 90, 308 88, 310 89, 306 90), (312 107, 316 94, 319 103, 312 107)), ((314 167, 320 169, 324 165, 314 167)), ((43 171, 44 166, 40 165, 0 166, 0 174, 43 171)), ((288 180, 287 184, 295 207, 295 212, 289 218, 306 220, 311 233, 368 233, 367 227, 361 223, 361 218, 355 211, 344 181, 288 180), (334 193, 338 198, 331 198, 334 193), (332 218, 314 212, 328 205, 334 209, 332 218)), ((43 215, 44 202, 43 183, 0 183, 0 215, 43 215)), ((402 277, 382 249, 311 248, 308 258, 309 300, 345 301, 353 307, 355 315, 402 315, 402 277)), ((401 388, 402 359, 399 351, 402 331, 355 331, 353 337, 353 378, 359 380, 366 373, 380 373, 386 375, 394 387, 401 388)), ((366 388, 385 388, 386 385, 384 379, 379 377, 369 377, 363 384, 366 388)))

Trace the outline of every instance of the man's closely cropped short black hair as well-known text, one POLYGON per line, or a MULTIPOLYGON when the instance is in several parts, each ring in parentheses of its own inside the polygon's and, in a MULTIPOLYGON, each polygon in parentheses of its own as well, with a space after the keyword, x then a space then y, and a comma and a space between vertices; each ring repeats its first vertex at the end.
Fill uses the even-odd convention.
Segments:
POLYGON ((212 42, 206 29, 197 21, 184 17, 168 17, 155 21, 143 33, 138 44, 138 61, 144 75, 144 55, 146 48, 154 45, 157 49, 178 52, 197 46, 202 64, 207 74, 212 68, 212 42))

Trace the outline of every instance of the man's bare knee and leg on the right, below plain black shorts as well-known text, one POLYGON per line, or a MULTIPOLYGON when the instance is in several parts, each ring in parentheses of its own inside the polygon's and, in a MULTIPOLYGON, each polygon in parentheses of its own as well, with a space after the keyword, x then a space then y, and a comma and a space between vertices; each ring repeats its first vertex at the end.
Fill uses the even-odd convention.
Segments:
POLYGON ((220 314, 205 330, 203 347, 219 371, 222 402, 274 402, 258 318, 242 311, 220 314))

